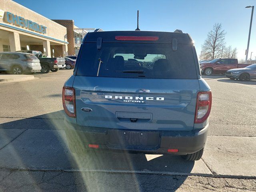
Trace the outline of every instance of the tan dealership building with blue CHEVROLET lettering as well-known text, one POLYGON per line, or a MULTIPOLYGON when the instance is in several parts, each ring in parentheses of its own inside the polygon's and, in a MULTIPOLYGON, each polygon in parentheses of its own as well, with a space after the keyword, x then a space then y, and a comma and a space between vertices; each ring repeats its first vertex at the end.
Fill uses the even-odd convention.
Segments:
POLYGON ((0 0, 0 52, 38 50, 48 57, 75 55, 84 35, 94 30, 78 28, 74 20, 50 20, 12 0, 0 0))

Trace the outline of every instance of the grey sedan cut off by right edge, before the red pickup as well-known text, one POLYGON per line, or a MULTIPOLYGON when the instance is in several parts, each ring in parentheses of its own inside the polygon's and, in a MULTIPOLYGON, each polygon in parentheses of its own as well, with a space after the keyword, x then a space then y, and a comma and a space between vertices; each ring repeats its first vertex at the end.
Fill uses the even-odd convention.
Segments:
POLYGON ((256 79, 256 64, 249 65, 245 68, 227 70, 225 76, 230 79, 238 79, 240 81, 256 79))

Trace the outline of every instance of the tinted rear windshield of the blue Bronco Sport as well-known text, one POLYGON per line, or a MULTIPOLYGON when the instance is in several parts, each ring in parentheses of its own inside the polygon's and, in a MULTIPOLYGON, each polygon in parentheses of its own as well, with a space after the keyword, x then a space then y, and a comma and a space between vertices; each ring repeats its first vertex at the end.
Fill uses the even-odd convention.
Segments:
POLYGON ((196 79, 196 65, 189 44, 96 43, 82 49, 76 75, 122 78, 196 79))

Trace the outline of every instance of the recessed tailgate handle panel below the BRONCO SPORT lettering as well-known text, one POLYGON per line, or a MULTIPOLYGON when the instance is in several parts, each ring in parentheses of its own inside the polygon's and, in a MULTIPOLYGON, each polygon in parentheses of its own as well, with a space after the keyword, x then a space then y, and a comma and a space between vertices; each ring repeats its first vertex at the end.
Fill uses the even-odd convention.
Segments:
POLYGON ((149 122, 152 113, 116 112, 116 118, 121 122, 149 122))

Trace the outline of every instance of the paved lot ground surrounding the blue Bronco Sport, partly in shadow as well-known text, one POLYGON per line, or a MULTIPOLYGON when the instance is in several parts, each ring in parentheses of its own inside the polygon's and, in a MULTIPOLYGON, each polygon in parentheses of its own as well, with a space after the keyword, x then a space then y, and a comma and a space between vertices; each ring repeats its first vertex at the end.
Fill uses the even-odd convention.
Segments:
POLYGON ((71 74, 59 70, 0 84, 0 191, 256 190, 255 80, 204 77, 213 94, 209 136, 202 160, 186 162, 168 155, 70 152, 61 91, 71 74))

